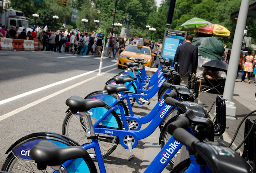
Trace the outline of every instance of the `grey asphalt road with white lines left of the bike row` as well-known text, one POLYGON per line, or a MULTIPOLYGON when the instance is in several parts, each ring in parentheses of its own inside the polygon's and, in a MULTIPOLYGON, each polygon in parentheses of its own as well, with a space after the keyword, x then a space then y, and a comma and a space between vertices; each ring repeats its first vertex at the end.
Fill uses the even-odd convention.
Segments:
MULTIPOLYGON (((5 152, 16 140, 34 132, 62 133, 62 122, 72 95, 86 96, 102 90, 104 83, 121 70, 116 61, 52 51, 0 51, 0 167, 5 152), (107 72, 107 73, 104 73, 107 72)), ((148 114, 147 106, 134 106, 134 114, 148 114)), ((145 140, 134 149, 136 159, 128 162, 128 150, 118 146, 106 157, 107 172, 141 172, 145 140)))

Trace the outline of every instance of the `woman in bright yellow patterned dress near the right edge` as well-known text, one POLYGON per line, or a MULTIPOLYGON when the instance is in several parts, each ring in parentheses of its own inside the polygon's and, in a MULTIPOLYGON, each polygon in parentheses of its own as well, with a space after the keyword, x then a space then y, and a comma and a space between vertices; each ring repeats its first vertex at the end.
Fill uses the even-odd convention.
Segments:
POLYGON ((244 75, 242 76, 242 82, 244 82, 245 76, 246 76, 246 72, 248 72, 248 82, 250 83, 250 77, 251 77, 251 72, 253 72, 253 65, 252 65, 252 61, 253 61, 253 56, 251 55, 252 51, 248 51, 248 55, 246 57, 244 57, 244 65, 243 65, 243 71, 244 71, 244 75))

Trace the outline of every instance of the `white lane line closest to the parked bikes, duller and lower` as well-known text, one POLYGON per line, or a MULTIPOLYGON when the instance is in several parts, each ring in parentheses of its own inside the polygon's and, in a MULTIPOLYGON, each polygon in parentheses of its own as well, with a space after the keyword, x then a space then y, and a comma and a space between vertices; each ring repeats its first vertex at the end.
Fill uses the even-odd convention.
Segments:
MULTIPOLYGON (((114 69, 110 69, 110 70, 108 70, 108 71, 106 71, 106 72, 104 72, 104 73, 102 73, 102 74, 106 74, 106 73, 108 73, 108 72, 110 72, 110 71, 113 71, 113 70, 115 70, 115 69, 117 69, 117 67, 114 68, 114 69)), ((48 96, 46 96, 46 97, 44 97, 44 98, 40 98, 39 100, 36 100, 36 101, 34 101, 34 102, 30 103, 30 104, 27 104, 27 105, 25 105, 25 106, 22 106, 22 107, 20 107, 20 108, 18 108, 18 109, 16 109, 16 110, 13 110, 12 112, 9 112, 9 113, 7 113, 7 114, 4 114, 4 115, 0 116, 0 121, 4 120, 4 119, 6 119, 6 118, 8 118, 8 117, 10 117, 10 116, 13 116, 13 115, 15 115, 15 114, 18 114, 19 112, 21 112, 21 111, 23 111, 23 110, 26 110, 26 109, 28 109, 28 108, 30 108, 30 107, 32 107, 32 106, 35 106, 36 104, 39 104, 39 103, 41 103, 41 102, 44 102, 45 100, 48 100, 49 98, 52 98, 52 97, 54 97, 54 96, 57 96, 58 94, 61 94, 62 92, 65 92, 65 91, 67 91, 67 90, 70 90, 70 89, 72 89, 72 88, 74 88, 74 87, 76 87, 76 86, 82 85, 82 84, 84 84, 84 83, 86 83, 86 82, 88 82, 88 81, 90 81, 90 80, 92 80, 92 79, 94 79, 94 78, 96 78, 96 77, 98 77, 98 76, 96 75, 96 76, 94 76, 94 77, 91 77, 91 78, 89 78, 89 79, 86 79, 86 80, 84 80, 84 81, 82 81, 82 82, 80 82, 80 83, 74 84, 74 85, 69 86, 69 87, 67 87, 67 88, 64 88, 64 89, 62 89, 62 90, 59 90, 59 91, 57 91, 57 92, 54 92, 53 94, 50 94, 50 95, 48 95, 48 96)))

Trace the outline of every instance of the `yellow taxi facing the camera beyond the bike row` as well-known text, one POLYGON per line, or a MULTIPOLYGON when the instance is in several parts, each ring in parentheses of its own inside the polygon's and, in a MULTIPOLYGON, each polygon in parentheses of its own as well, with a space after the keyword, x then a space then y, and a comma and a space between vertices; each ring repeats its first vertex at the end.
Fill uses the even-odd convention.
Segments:
POLYGON ((125 49, 121 49, 121 53, 118 57, 118 68, 122 69, 123 67, 127 67, 125 65, 127 62, 134 62, 130 59, 145 59, 146 64, 144 66, 152 67, 154 63, 154 57, 156 54, 151 53, 150 47, 143 46, 143 39, 139 41, 138 45, 128 45, 125 49))

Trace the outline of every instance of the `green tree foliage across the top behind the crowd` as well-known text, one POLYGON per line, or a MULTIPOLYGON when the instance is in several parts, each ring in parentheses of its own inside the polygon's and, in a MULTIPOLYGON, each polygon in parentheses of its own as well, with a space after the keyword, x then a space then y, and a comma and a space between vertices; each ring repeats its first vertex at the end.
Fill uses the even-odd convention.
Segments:
MULTIPOLYGON (((58 4, 58 0, 44 0, 44 3, 34 2, 32 0, 11 0, 11 6, 15 10, 21 10, 25 16, 31 18, 30 24, 35 24, 32 14, 39 14, 36 23, 40 26, 50 26, 50 28, 60 28, 62 23, 83 30, 83 18, 88 19, 86 31, 100 32, 108 34, 112 29, 113 22, 124 22, 124 17, 130 15, 130 35, 132 37, 152 37, 154 40, 163 38, 166 27, 166 20, 170 5, 170 0, 162 0, 160 7, 157 9, 154 0, 68 0, 68 6, 58 4), (116 6, 115 21, 113 20, 112 11, 116 6), (72 8, 78 10, 78 20, 71 22, 72 8), (59 16, 58 20, 52 19, 52 16, 59 16), (96 24, 94 20, 100 20, 96 24), (146 25, 156 28, 151 31, 146 25), (110 30, 109 30, 110 29, 110 30), (148 34, 147 34, 148 32, 148 34)), ((230 37, 218 37, 224 44, 231 47, 236 28, 237 20, 230 18, 232 11, 240 8, 241 0, 176 0, 174 16, 172 19, 171 29, 177 29, 181 24, 198 17, 207 20, 213 24, 220 24, 231 31, 230 37)), ((248 19, 248 35, 252 37, 252 43, 256 43, 255 19, 248 19)), ((116 28, 116 33, 120 33, 121 28, 116 28)), ((193 31, 188 34, 194 35, 193 31)))

